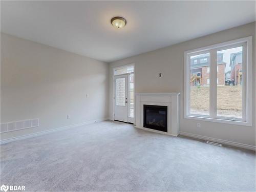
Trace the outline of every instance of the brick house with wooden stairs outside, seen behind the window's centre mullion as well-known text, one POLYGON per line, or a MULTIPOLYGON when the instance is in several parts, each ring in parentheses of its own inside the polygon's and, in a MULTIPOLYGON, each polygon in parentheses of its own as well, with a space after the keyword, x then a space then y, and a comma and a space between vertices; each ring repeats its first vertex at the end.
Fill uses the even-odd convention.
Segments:
MULTIPOLYGON (((226 62, 223 53, 217 54, 217 84, 225 85, 226 62)), ((209 54, 201 54, 190 59, 190 86, 209 86, 209 54)))

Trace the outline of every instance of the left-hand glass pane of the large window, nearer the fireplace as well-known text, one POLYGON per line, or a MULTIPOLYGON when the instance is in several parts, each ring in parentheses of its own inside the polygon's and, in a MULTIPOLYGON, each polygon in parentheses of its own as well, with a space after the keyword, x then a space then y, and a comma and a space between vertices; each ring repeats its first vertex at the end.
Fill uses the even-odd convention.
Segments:
POLYGON ((190 57, 190 114, 209 115, 209 55, 190 57))

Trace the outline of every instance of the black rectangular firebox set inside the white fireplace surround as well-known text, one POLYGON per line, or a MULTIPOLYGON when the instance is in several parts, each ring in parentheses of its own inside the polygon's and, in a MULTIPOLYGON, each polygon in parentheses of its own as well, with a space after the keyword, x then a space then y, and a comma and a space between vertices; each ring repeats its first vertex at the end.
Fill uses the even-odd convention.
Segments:
POLYGON ((143 105, 143 126, 149 129, 167 132, 167 106, 143 105))

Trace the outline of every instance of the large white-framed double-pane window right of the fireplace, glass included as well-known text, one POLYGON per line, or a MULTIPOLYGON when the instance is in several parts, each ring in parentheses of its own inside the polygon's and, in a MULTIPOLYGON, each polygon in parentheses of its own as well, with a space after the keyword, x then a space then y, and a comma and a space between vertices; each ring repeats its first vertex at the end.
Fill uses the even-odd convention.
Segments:
POLYGON ((252 37, 186 51, 184 99, 185 118, 251 126, 252 37))

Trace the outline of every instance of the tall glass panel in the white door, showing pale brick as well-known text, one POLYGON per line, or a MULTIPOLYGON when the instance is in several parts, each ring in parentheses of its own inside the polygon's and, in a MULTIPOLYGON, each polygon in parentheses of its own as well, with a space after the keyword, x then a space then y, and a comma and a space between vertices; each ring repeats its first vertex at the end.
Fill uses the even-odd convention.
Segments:
POLYGON ((116 105, 125 106, 125 77, 116 79, 116 105))

